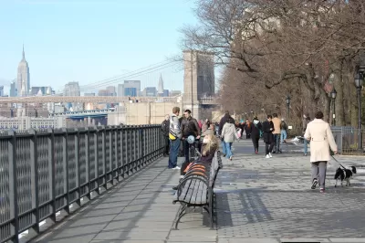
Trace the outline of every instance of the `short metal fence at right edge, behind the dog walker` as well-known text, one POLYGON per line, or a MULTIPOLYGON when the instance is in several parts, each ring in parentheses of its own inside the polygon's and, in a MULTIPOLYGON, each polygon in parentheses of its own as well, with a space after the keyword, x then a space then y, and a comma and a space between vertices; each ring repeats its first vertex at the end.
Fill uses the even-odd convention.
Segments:
POLYGON ((365 155, 365 129, 353 127, 331 127, 339 153, 365 155), (361 143, 362 141, 362 143, 361 143))

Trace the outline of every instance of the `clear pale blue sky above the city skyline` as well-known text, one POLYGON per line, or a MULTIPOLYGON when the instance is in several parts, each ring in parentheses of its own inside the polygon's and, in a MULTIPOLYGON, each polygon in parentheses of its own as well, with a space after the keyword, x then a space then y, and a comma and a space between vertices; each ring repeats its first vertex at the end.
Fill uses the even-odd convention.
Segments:
MULTIPOLYGON (((193 6, 193 0, 1 0, 0 85, 16 78, 23 43, 31 86, 54 90, 164 61, 181 53, 178 29, 196 22, 193 6)), ((141 77, 142 85, 157 85, 158 76, 141 77)), ((182 71, 162 76, 165 88, 183 89, 182 71)))

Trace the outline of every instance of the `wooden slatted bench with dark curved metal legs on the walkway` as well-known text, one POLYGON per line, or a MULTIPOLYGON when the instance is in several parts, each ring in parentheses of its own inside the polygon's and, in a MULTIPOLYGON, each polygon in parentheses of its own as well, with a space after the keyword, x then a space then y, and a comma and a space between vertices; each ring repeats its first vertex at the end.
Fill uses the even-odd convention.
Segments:
POLYGON ((214 184, 219 170, 223 167, 221 152, 214 154, 212 163, 196 161, 178 185, 172 204, 179 202, 179 210, 175 223, 177 229, 180 219, 187 213, 189 207, 202 206, 208 212, 211 228, 214 226, 214 184))

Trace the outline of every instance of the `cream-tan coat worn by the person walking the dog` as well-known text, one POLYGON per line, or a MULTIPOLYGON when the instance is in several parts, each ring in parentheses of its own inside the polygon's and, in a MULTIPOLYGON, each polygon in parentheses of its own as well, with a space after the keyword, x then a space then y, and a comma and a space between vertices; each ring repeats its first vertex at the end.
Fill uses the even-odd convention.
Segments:
POLYGON ((321 119, 315 119, 308 123, 304 137, 310 139, 311 163, 329 161, 329 147, 332 151, 337 151, 337 144, 329 124, 321 119))

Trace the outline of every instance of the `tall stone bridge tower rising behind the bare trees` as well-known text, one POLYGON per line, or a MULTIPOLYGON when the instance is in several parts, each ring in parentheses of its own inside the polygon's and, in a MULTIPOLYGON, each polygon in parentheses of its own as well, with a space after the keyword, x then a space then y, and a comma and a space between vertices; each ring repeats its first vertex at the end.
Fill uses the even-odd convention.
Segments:
POLYGON ((191 110, 197 120, 210 119, 203 117, 206 112, 203 111, 202 100, 214 96, 214 54, 185 50, 183 64, 183 110, 191 110))

